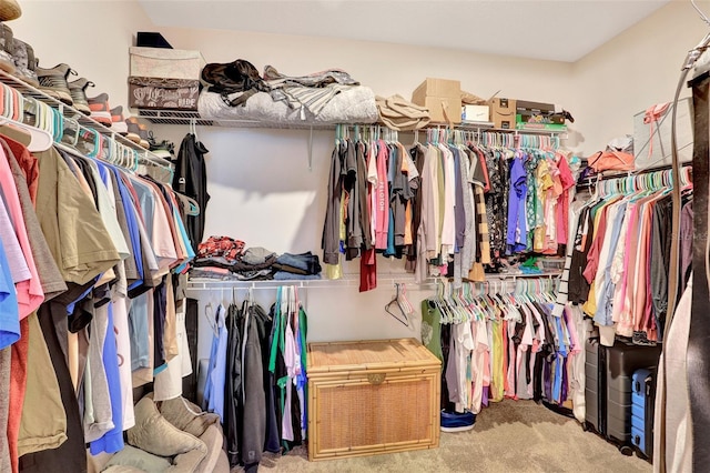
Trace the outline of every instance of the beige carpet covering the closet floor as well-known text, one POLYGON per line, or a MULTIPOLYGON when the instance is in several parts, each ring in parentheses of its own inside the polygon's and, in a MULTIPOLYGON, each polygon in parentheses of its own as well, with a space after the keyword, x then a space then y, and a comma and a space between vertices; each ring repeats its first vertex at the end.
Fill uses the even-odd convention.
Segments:
MULTIPOLYGON (((442 432, 440 446, 405 453, 308 462, 304 447, 265 454, 264 472, 651 472, 650 463, 623 456, 574 420, 531 401, 485 409, 473 431, 442 432)), ((239 469, 233 471, 240 471, 239 469)))

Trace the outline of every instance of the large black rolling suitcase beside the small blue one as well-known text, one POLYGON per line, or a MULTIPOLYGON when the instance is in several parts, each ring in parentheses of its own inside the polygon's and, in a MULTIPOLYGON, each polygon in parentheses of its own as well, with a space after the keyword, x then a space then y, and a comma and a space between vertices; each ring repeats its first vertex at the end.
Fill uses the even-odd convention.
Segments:
POLYGON ((586 426, 633 453, 631 446, 631 392, 633 372, 658 365, 660 346, 635 345, 617 339, 613 346, 602 346, 598 339, 587 341, 586 426))

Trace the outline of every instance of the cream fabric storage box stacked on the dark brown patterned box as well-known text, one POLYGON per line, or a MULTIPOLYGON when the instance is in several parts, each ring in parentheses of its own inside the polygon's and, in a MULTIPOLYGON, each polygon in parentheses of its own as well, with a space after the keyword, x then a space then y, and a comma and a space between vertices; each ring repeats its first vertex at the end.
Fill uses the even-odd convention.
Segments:
POLYGON ((200 80, 205 60, 200 51, 129 48, 131 77, 200 80))

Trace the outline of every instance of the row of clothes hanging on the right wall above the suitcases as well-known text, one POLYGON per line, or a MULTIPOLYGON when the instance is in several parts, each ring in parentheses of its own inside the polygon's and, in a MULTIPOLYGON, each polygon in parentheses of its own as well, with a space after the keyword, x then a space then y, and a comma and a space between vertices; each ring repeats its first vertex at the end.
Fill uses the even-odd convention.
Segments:
MULTIPOLYGON (((668 306, 668 175, 660 171, 623 179, 602 182, 602 195, 587 202, 579 219, 572 220, 575 248, 568 253, 569 271, 562 280, 569 302, 584 304, 600 326, 601 343, 612 343, 617 334, 637 344, 655 344, 662 340, 668 306)), ((689 182, 681 185, 689 204, 692 189, 689 182)), ((690 233, 686 225, 681 248, 691 241, 690 233)), ((688 268, 682 271, 687 273, 688 268)))

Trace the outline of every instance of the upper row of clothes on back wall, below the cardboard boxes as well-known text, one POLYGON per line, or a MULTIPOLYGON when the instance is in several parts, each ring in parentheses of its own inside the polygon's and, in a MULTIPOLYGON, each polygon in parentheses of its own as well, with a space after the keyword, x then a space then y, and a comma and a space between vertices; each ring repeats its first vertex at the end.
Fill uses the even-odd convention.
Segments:
POLYGON ((381 253, 404 256, 416 281, 484 281, 486 272, 507 271, 511 258, 557 254, 567 243, 567 223, 558 221, 568 217, 575 180, 554 140, 430 131, 426 144, 405 148, 394 135, 344 130, 328 178, 328 278, 342 278, 341 254, 359 256, 361 292, 372 290, 381 253))

